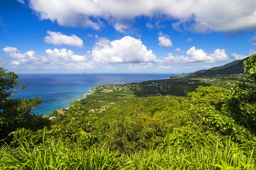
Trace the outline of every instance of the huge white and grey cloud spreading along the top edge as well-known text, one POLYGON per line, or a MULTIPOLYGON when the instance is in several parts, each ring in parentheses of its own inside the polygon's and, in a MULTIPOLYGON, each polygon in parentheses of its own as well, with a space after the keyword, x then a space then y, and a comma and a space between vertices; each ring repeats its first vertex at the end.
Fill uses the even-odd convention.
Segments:
MULTIPOLYGON (((23 0, 18 0, 23 3, 23 0)), ((180 1, 116 1, 116 0, 28 0, 29 6, 40 19, 57 21, 68 27, 99 30, 103 20, 117 31, 132 26, 136 17, 161 17, 173 23, 177 30, 195 32, 234 32, 254 30, 256 1, 180 0, 180 1)), ((148 28, 156 24, 147 24, 148 28)))

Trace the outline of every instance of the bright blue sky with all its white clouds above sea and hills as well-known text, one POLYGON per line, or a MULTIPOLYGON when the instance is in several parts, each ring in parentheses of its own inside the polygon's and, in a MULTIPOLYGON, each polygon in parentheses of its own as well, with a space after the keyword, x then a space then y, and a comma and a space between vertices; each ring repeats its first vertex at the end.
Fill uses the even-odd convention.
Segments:
POLYGON ((255 53, 255 30, 255 0, 2 0, 0 67, 195 72, 255 53))

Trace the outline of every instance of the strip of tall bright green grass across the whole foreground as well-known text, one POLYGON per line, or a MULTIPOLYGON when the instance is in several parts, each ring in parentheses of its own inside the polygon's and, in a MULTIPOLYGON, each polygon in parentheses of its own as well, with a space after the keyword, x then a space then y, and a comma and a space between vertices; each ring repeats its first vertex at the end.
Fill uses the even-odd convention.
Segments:
POLYGON ((39 145, 18 141, 19 147, 8 145, 0 149, 0 169, 219 169, 229 166, 255 166, 255 155, 246 154, 239 145, 229 141, 214 146, 148 147, 120 153, 103 146, 84 147, 60 139, 39 145))

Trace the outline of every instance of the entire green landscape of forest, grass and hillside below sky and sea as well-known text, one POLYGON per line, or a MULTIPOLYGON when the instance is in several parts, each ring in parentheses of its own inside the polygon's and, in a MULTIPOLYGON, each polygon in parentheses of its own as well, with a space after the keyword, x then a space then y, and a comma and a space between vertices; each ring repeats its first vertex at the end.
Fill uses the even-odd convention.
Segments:
POLYGON ((256 54, 211 70, 94 87, 41 116, 1 68, 0 169, 255 169, 256 54))

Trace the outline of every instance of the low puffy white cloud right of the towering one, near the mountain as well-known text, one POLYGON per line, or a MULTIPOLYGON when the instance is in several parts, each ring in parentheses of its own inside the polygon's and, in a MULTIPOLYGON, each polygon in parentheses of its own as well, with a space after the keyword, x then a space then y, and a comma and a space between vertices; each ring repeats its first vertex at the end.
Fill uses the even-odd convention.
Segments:
POLYGON ((186 51, 186 56, 173 56, 172 53, 168 53, 167 55, 168 57, 163 57, 163 60, 170 63, 214 63, 229 60, 224 49, 216 49, 213 53, 207 54, 202 49, 196 49, 195 47, 191 47, 189 50, 186 51))

